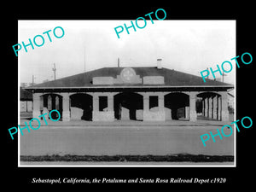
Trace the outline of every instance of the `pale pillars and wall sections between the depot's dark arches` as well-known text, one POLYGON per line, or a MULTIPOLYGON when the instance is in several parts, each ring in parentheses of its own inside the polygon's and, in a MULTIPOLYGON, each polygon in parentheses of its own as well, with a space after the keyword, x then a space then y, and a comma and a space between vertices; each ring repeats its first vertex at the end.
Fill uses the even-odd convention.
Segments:
MULTIPOLYGON (((132 112, 132 115, 135 115, 135 119, 137 120, 143 120, 143 121, 165 121, 172 119, 172 113, 175 113, 175 110, 172 110, 172 108, 166 108, 165 106, 165 99, 172 99, 173 97, 165 97, 166 95, 170 95, 170 93, 176 93, 173 92, 137 92, 134 94, 137 94, 138 97, 134 97, 134 102, 141 102, 143 104, 143 108, 133 108, 134 110, 132 112), (158 104, 154 108, 150 108, 149 103, 149 97, 150 96, 157 96, 158 98, 158 104), (171 115, 170 115, 171 114, 171 115)), ((182 106, 184 110, 184 118, 188 119, 190 121, 197 120, 197 113, 196 113, 196 97, 200 96, 201 93, 199 91, 179 91, 179 94, 183 94, 189 98, 189 103, 184 104, 182 106)), ((44 93, 47 94, 47 93, 44 93)), ((44 100, 40 99, 40 96, 44 95, 43 93, 34 93, 33 94, 33 117, 37 118, 38 115, 42 113, 42 110, 40 111, 40 106, 44 106, 44 100)), ((68 121, 70 119, 82 119, 81 117, 84 115, 84 111, 81 108, 74 108, 70 105, 71 103, 71 96, 73 94, 77 94, 76 92, 73 93, 67 93, 67 92, 61 92, 61 93, 54 93, 55 95, 59 95, 61 98, 61 106, 60 109, 62 114, 62 119, 64 121, 68 121)), ((79 93, 81 94, 81 93, 79 93)), ((93 121, 114 121, 115 120, 115 108, 114 108, 114 101, 115 96, 118 95, 119 92, 86 92, 84 95, 90 96, 86 97, 87 100, 90 101, 90 110, 92 111, 90 118, 93 121), (99 97, 100 96, 106 96, 107 97, 107 107, 101 110, 100 103, 99 103, 99 97)), ((132 93, 133 94, 133 93, 132 93)), ((131 95, 133 96, 133 95, 131 95)), ((129 96, 128 96, 129 97, 129 96)), ((155 97, 154 97, 155 98, 155 97)), ((174 97, 175 98, 175 97, 174 97)), ((177 97, 176 100, 179 98, 177 97)), ((132 100, 131 100, 132 101, 132 100)), ((131 102, 129 101, 129 102, 131 102)), ((184 100, 185 101, 185 100, 184 100)), ((177 101, 171 101, 173 103, 176 103, 177 101)), ((207 115, 211 119, 218 119, 218 120, 228 120, 228 97, 226 91, 219 91, 218 95, 216 96, 208 96, 203 98, 203 114, 207 115), (207 112, 207 113, 206 113, 207 112)), ((46 106, 47 107, 47 106, 46 106)), ((45 110, 49 110, 48 108, 45 108, 45 110)), ((121 119, 131 119, 131 108, 125 108, 122 106, 120 108, 121 111, 121 119)), ((177 110, 176 110, 177 111, 177 110)))

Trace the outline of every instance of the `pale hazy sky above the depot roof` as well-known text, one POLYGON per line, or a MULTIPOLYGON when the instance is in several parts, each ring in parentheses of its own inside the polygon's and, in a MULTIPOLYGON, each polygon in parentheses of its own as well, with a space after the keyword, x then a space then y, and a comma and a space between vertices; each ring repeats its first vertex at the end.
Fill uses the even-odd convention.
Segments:
MULTIPOLYGON (((118 38, 114 28, 131 26, 131 20, 19 20, 17 44, 44 37, 43 46, 27 46, 27 52, 22 47, 18 52, 20 83, 31 83, 32 75, 36 84, 53 80, 54 63, 56 79, 84 73, 84 65, 86 72, 117 67, 118 58, 120 67, 155 67, 157 59, 162 59, 162 67, 201 76, 207 67, 217 69, 217 64, 236 56, 236 20, 146 21, 143 29, 136 26, 135 32, 131 27, 130 34, 124 30, 118 38), (53 34, 56 26, 63 28, 62 38, 53 34), (49 30, 52 42, 43 34, 49 30)), ((55 32, 61 35, 60 30, 55 32)), ((235 84, 236 64, 231 63, 233 70, 226 73, 224 82, 235 84)))

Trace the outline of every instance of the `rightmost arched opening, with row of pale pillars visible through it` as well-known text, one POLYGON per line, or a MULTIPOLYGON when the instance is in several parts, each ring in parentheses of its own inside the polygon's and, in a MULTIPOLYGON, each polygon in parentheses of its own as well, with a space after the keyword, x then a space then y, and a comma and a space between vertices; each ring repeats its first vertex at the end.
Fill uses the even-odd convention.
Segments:
POLYGON ((202 92, 197 94, 197 119, 221 120, 221 102, 221 95, 218 93, 202 92))

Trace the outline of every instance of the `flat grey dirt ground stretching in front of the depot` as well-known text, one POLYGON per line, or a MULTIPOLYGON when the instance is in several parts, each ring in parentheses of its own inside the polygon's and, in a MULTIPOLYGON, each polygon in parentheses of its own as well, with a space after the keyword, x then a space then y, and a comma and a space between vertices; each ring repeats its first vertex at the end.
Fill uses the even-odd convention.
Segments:
POLYGON ((216 125, 41 126, 20 135, 20 155, 210 154, 234 155, 234 137, 215 137, 204 147, 201 135, 216 125))

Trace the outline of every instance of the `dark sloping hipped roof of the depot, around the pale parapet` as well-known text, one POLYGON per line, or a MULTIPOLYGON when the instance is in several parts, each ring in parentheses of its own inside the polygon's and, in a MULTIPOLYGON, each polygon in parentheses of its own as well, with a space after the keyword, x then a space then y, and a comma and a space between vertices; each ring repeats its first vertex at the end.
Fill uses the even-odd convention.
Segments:
MULTIPOLYGON (((95 77, 113 77, 117 75, 125 67, 104 67, 96 69, 86 73, 79 73, 73 76, 69 76, 62 79, 56 79, 53 81, 44 82, 42 84, 35 84, 27 89, 48 89, 48 88, 96 88, 102 87, 101 84, 93 84, 92 79, 95 77)), ((157 68, 157 67, 131 67, 136 75, 140 78, 146 76, 162 76, 164 77, 164 84, 104 84, 103 87, 229 87, 233 88, 233 84, 226 84, 223 82, 215 81, 212 79, 206 79, 204 83, 203 79, 199 76, 195 76, 189 73, 178 72, 173 69, 157 68)))

